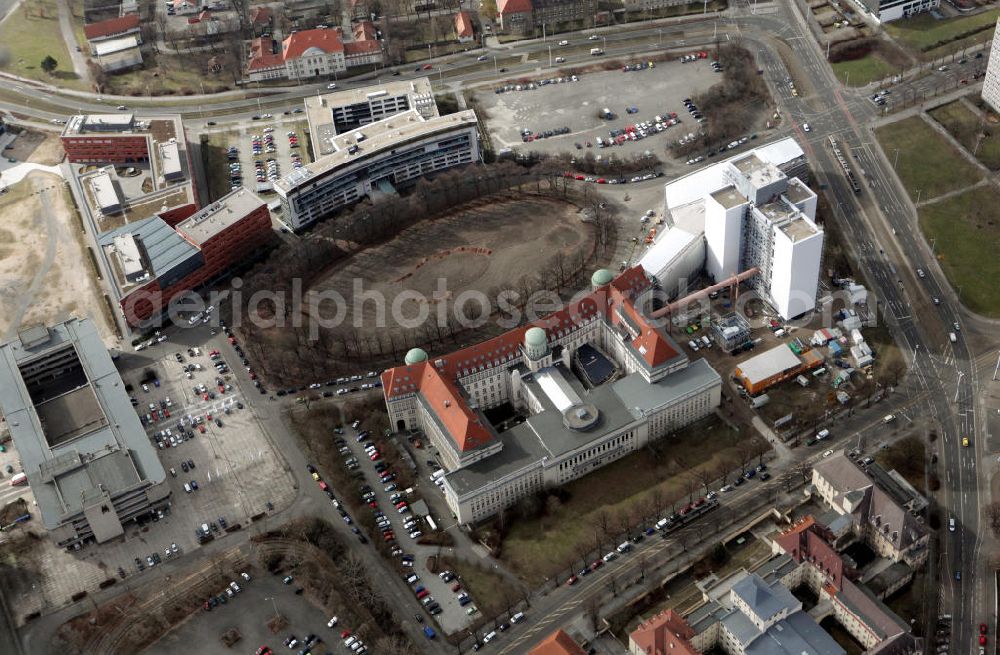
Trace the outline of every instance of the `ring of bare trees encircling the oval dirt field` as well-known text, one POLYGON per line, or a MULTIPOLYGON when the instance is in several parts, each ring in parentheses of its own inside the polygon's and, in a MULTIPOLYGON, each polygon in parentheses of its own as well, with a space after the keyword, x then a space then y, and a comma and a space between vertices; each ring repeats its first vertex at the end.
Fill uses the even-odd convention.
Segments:
POLYGON ((513 162, 474 165, 422 180, 405 196, 356 205, 301 239, 280 245, 246 276, 241 295, 244 304, 224 306, 224 315, 240 330, 259 371, 281 384, 330 377, 362 365, 388 365, 414 347, 433 351, 493 336, 501 327, 484 319, 499 316, 505 309, 498 301, 501 297, 523 310, 538 291, 569 293, 585 285, 588 263, 594 258, 604 260, 610 253, 616 237, 617 208, 602 202, 591 186, 567 180, 561 167, 551 161, 531 168, 513 162), (467 323, 454 312, 448 313, 446 321, 429 320, 412 329, 370 329, 347 323, 318 327, 315 317, 306 314, 308 308, 281 300, 294 297, 296 288, 309 289, 331 267, 358 250, 384 243, 421 221, 446 216, 469 203, 505 202, 528 194, 581 206, 594 230, 596 246, 593 251, 554 251, 541 270, 512 277, 502 288, 482 289, 488 306, 482 308, 480 316, 467 317, 476 327, 463 327, 467 323), (251 307, 250 300, 257 292, 268 293, 262 300, 254 300, 251 307), (241 317, 253 312, 283 327, 262 326, 257 320, 232 321, 235 311, 241 317))

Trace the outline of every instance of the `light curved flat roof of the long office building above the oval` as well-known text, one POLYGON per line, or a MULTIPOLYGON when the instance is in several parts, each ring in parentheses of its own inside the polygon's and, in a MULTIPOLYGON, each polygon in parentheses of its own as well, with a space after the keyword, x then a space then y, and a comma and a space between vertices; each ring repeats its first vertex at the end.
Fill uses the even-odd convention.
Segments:
POLYGON ((333 139, 335 147, 338 148, 337 152, 320 157, 315 162, 289 173, 275 183, 275 188, 287 193, 308 180, 326 175, 345 164, 363 160, 383 150, 397 148, 407 141, 456 127, 475 125, 476 112, 471 109, 429 120, 421 118, 416 110, 406 111, 382 121, 369 123, 350 133, 338 135, 333 139), (355 132, 362 132, 365 138, 359 145, 360 151, 352 155, 348 148, 354 143, 355 132))

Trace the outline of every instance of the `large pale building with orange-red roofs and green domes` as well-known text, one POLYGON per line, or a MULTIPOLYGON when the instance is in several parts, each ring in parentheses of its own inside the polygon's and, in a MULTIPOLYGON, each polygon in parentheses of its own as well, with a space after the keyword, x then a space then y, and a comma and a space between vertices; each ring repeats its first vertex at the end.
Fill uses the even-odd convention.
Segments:
POLYGON ((448 473, 458 520, 482 520, 697 421, 718 407, 721 378, 689 361, 643 305, 639 266, 597 271, 592 291, 532 323, 431 358, 418 348, 382 374, 397 430, 422 430, 448 473), (509 405, 522 421, 490 423, 509 405))

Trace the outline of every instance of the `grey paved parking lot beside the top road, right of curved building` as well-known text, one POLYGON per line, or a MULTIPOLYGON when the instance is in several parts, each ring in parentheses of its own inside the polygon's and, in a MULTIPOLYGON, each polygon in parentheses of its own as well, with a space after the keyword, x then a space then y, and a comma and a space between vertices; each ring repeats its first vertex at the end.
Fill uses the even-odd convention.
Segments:
MULTIPOLYGON (((669 140, 698 131, 698 123, 688 118, 684 109, 684 99, 705 91, 720 79, 712 72, 709 60, 688 64, 665 61, 656 63, 652 69, 628 73, 621 69, 587 73, 579 82, 548 84, 529 91, 500 94, 483 91, 477 94, 477 101, 486 110, 486 122, 497 150, 520 147, 565 152, 575 151, 574 143, 586 149, 585 144, 590 141, 589 150, 595 155, 614 153, 620 157, 650 150, 662 157, 669 140), (636 107, 638 112, 626 113, 629 107, 636 107), (601 119, 599 113, 604 108, 610 109, 616 118, 601 119), (609 136, 611 129, 650 121, 656 115, 671 112, 681 118, 680 124, 639 141, 597 148, 597 137, 609 136), (537 132, 560 127, 568 127, 569 133, 536 140, 530 145, 521 141, 523 129, 537 132)), ((711 120, 710 116, 707 118, 711 120)))

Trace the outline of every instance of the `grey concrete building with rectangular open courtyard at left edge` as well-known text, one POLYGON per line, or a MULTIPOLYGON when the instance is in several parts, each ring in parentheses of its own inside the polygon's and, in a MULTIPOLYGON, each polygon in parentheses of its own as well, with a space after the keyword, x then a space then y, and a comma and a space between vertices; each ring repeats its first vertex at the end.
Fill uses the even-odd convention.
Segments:
POLYGON ((0 411, 59 546, 121 537, 167 504, 166 473, 91 321, 23 329, 0 346, 0 411))

